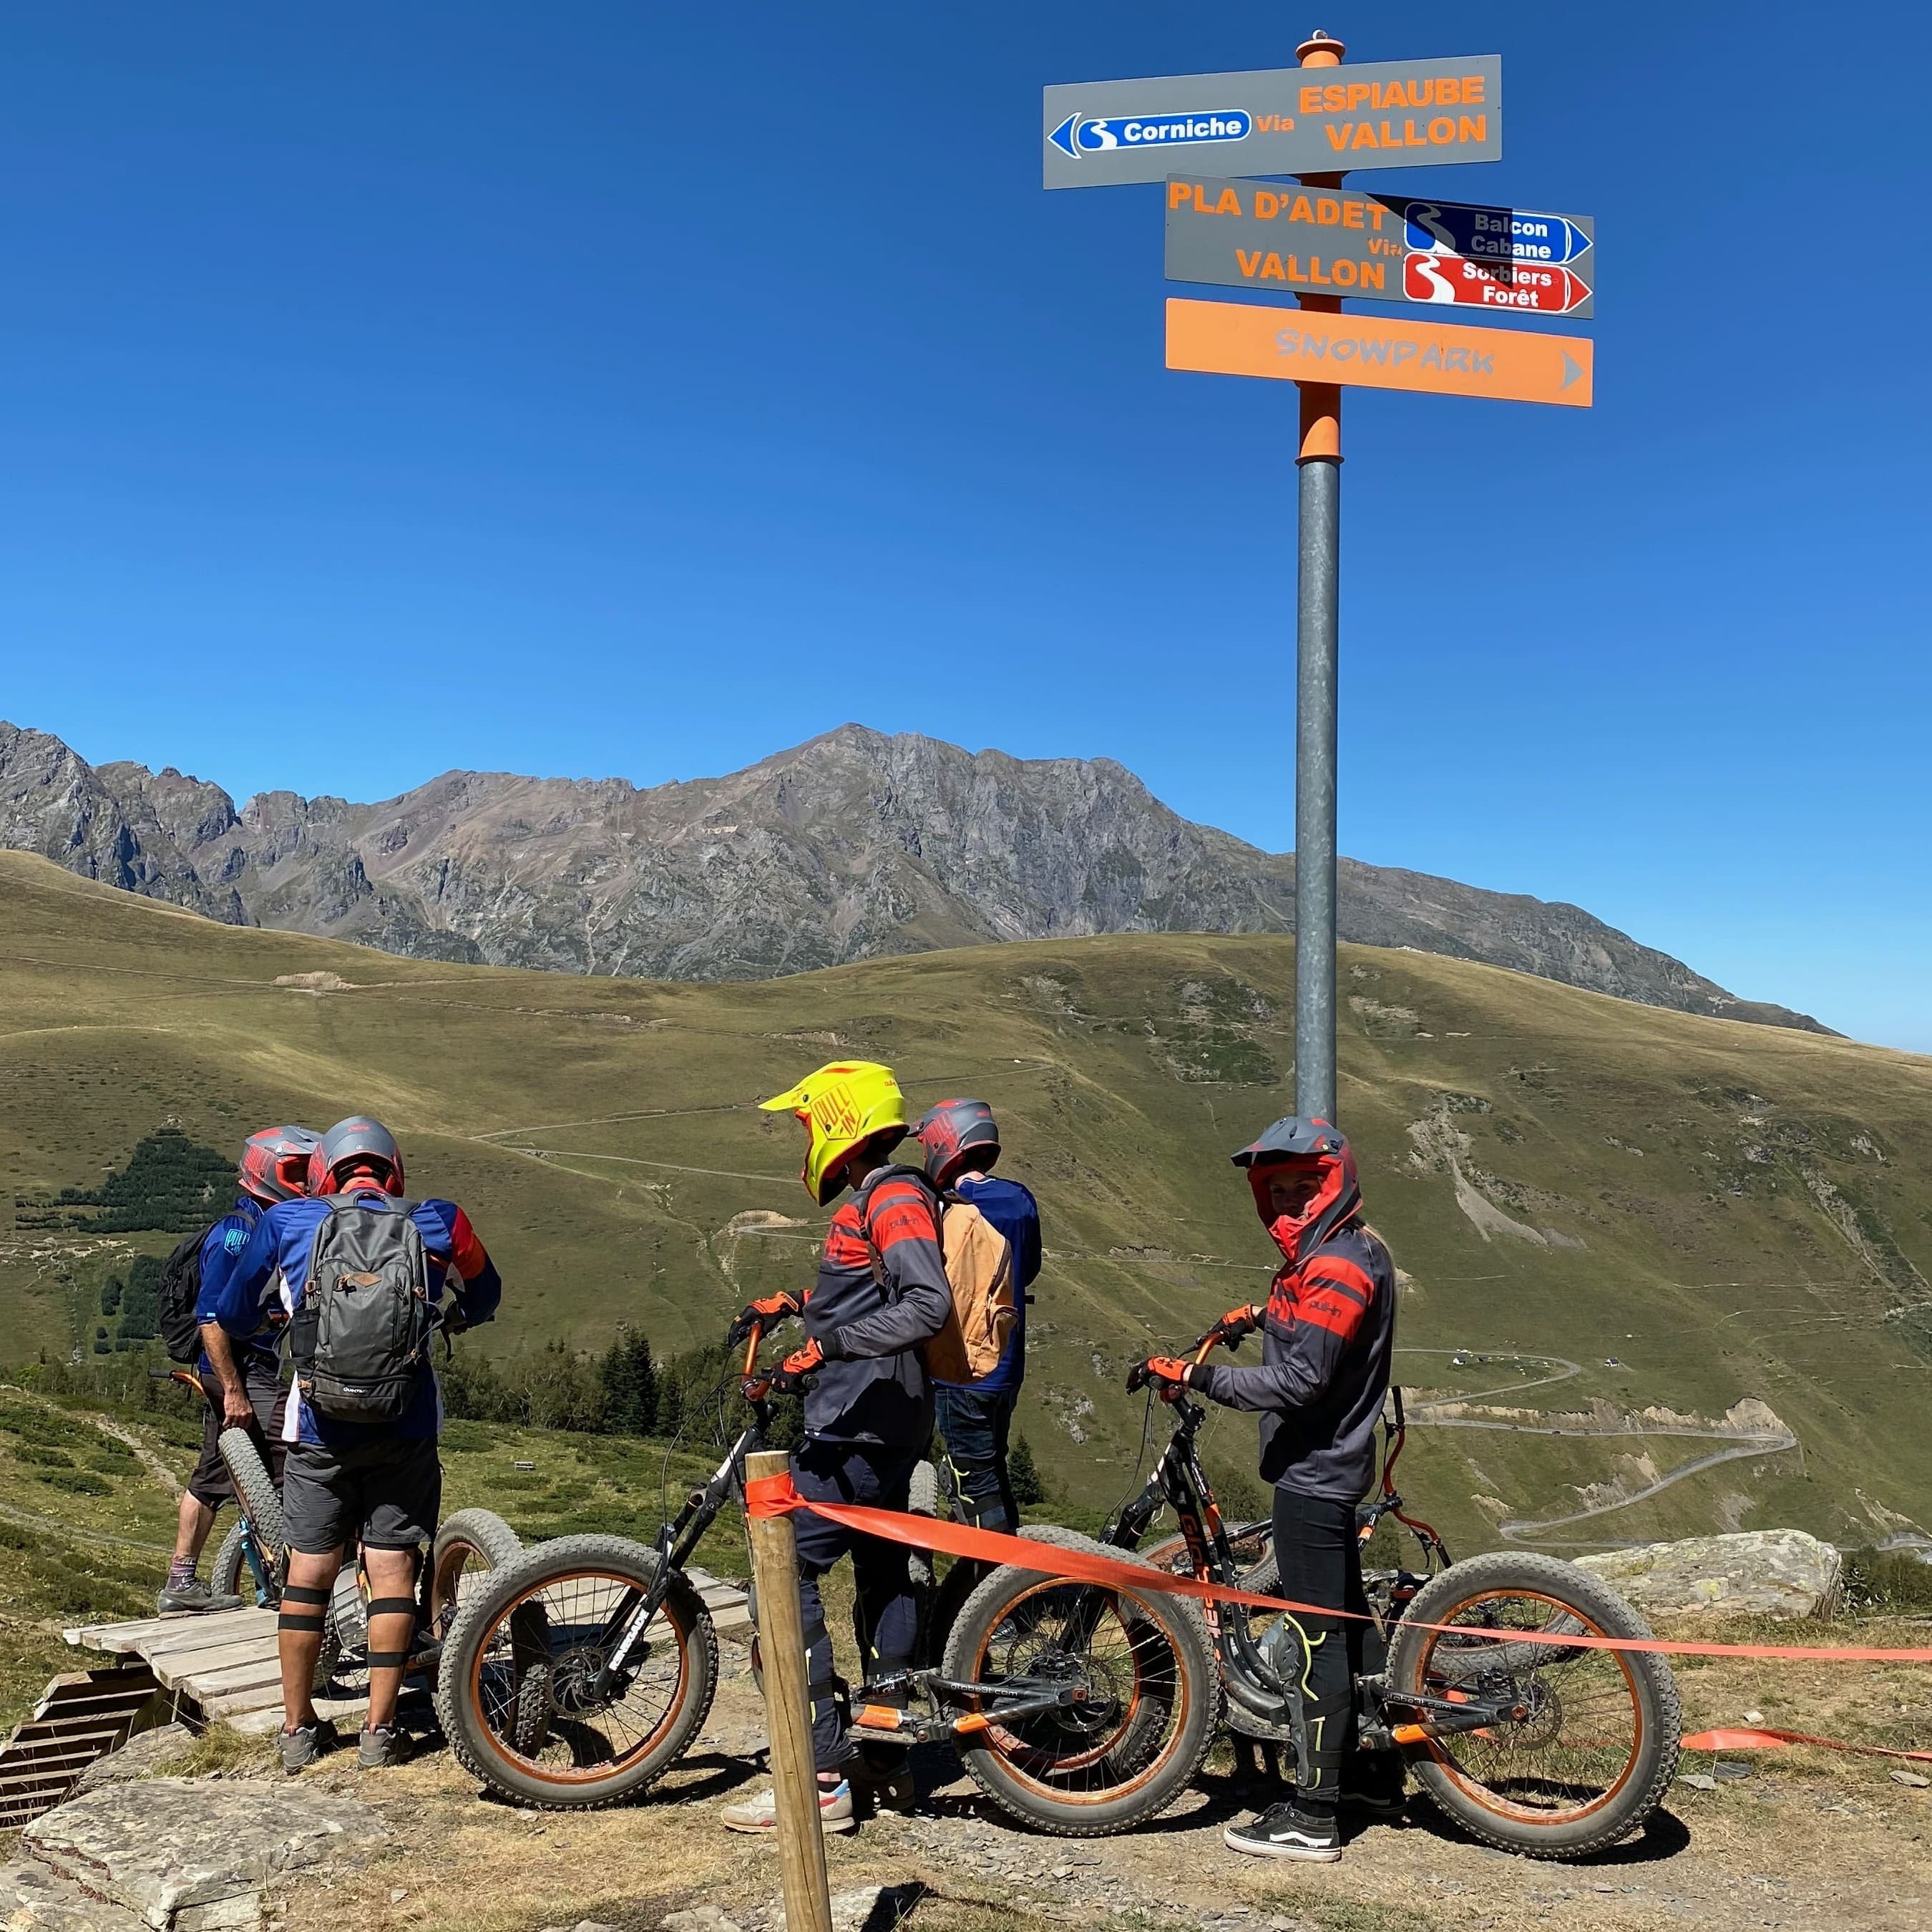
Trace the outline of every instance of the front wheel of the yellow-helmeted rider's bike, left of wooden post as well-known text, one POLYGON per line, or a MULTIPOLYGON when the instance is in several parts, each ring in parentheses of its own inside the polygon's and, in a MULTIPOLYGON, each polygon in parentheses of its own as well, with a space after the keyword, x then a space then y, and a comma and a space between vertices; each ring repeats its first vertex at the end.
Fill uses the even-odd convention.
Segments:
POLYGON ((614 1804, 663 1777, 711 1710, 711 1613, 676 1577, 622 1671, 605 1681, 657 1551, 560 1536, 464 1592, 442 1646, 437 1716, 464 1770, 549 1810, 614 1804))

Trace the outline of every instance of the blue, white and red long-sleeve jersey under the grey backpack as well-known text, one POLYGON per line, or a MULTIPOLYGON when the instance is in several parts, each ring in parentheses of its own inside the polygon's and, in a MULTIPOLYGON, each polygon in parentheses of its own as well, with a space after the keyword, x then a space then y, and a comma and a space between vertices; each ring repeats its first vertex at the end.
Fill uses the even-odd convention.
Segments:
MULTIPOLYGON (((497 1314, 497 1304, 502 1300, 502 1277, 483 1242, 477 1240, 469 1215, 456 1202, 400 1202, 377 1188, 357 1188, 354 1198, 363 1208, 392 1208, 398 1213, 404 1209, 410 1213, 421 1229, 429 1258, 431 1300, 439 1300, 444 1289, 452 1289, 458 1320, 469 1327, 489 1321, 497 1314)), ((255 1223, 255 1233, 249 1235, 242 1258, 213 1302, 214 1320, 238 1341, 247 1339, 263 1325, 263 1291, 276 1271, 282 1275, 286 1310, 294 1314, 301 1304, 309 1287, 315 1236, 328 1219, 328 1200, 276 1202, 255 1223)), ((290 1391, 284 1434, 290 1441, 346 1445, 433 1439, 440 1428, 442 1397, 435 1374, 425 1374, 415 1399, 394 1422, 342 1422, 336 1416, 319 1416, 301 1399, 299 1389, 290 1391)))

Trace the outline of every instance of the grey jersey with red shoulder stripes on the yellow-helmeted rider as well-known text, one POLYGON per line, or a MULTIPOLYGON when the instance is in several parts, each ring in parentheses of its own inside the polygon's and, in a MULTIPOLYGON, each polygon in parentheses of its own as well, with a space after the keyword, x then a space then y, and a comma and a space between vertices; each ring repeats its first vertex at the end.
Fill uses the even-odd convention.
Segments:
POLYGON ((806 1294, 806 1333, 825 1352, 806 1391, 806 1434, 923 1449, 933 1434, 933 1383, 920 1345, 949 1314, 952 1287, 933 1196, 908 1169, 875 1169, 833 1215, 819 1279, 806 1294))

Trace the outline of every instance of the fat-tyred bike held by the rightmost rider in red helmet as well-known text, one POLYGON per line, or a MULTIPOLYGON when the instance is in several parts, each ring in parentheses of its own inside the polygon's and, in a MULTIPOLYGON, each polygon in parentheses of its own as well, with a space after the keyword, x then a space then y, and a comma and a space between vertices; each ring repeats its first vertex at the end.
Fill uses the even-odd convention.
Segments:
MULTIPOLYGON (((1215 1325, 1196 1362, 1240 1335, 1215 1325)), ((1140 1370, 1128 1387, 1146 1385, 1140 1370)), ((1175 1432, 1146 1488, 1101 1532, 1138 1549, 1163 1505, 1180 1522, 1150 1559, 1258 1596, 1281 1596, 1267 1522, 1229 1528, 1198 1453, 1208 1418, 1184 1389, 1175 1432)), ((1420 1544, 1422 1569, 1368 1569, 1374 1623, 1356 1679, 1358 1741, 1399 1750, 1430 1799, 1472 1837, 1532 1859, 1580 1859, 1636 1832, 1677 1774, 1681 1710, 1669 1665, 1652 1652, 1548 1642, 1648 1638, 1650 1627, 1607 1584, 1532 1551, 1497 1549, 1455 1563, 1443 1540, 1406 1515, 1393 1472, 1405 1441, 1401 1391, 1387 1424, 1381 1490, 1356 1515, 1366 1546, 1395 1519, 1420 1544), (1511 1642, 1511 1633, 1520 1640, 1511 1642)), ((1293 1615, 1217 1605, 1208 1613, 1229 1729, 1294 1752, 1306 1779, 1302 1673, 1308 1638, 1293 1615)))

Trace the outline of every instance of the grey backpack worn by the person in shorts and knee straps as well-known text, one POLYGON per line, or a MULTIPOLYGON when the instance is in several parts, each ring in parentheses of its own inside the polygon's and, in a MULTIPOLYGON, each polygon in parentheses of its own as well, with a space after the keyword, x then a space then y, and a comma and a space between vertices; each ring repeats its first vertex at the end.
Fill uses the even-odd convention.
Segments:
POLYGON ((336 1194, 315 1231, 288 1323, 296 1387, 317 1414, 394 1422, 421 1387, 435 1335, 429 1250, 412 1202, 336 1194))

